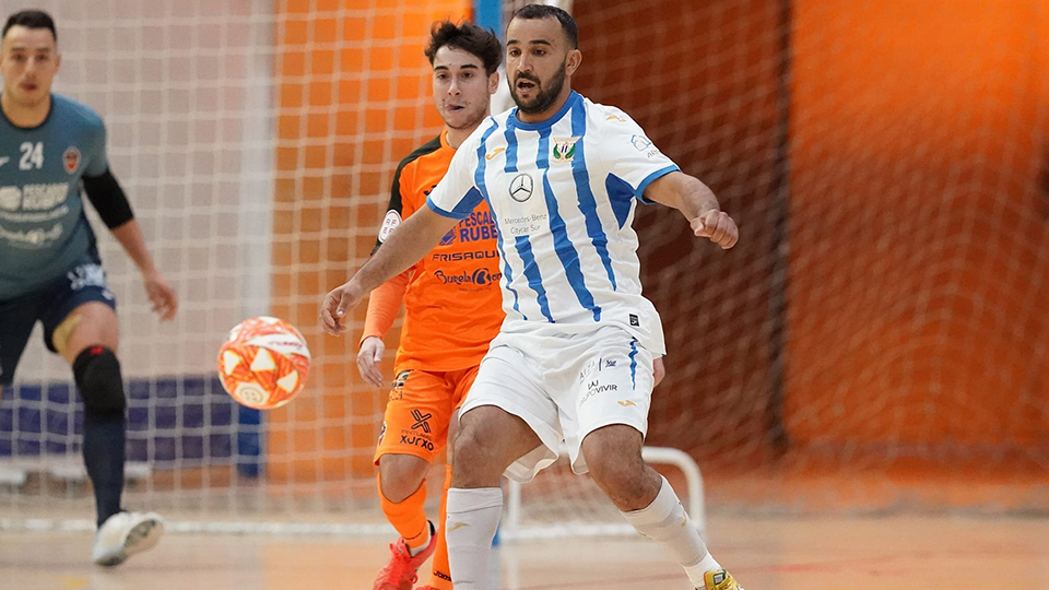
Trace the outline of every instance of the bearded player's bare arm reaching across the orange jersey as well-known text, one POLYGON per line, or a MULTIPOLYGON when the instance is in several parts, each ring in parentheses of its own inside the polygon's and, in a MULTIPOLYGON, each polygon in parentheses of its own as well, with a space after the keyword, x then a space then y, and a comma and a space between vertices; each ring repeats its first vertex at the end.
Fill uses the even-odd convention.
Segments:
POLYGON ((320 306, 320 323, 331 335, 346 331, 342 318, 372 290, 404 272, 432 250, 459 220, 438 215, 428 206, 404 220, 352 279, 335 287, 320 306))

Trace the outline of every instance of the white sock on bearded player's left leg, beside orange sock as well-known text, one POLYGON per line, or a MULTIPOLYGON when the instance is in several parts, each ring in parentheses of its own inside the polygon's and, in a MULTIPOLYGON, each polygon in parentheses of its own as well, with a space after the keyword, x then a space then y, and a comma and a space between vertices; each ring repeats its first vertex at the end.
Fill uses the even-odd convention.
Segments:
POLYGON ((480 487, 448 491, 445 541, 456 590, 488 589, 492 539, 503 516, 503 489, 480 487))

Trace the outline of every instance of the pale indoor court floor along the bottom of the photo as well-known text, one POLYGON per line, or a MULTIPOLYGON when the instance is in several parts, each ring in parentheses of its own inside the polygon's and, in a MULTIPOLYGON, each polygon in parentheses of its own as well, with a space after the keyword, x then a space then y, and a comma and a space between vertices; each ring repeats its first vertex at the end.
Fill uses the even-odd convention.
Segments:
MULTIPOLYGON (((1049 518, 715 516, 712 552, 747 590, 1049 589, 1049 518)), ((116 569, 91 533, 0 531, 3 590, 369 590, 388 540, 168 534, 116 569)), ((502 590, 688 590, 641 538, 498 548, 502 590)), ((421 583, 425 582, 423 577, 421 583)))

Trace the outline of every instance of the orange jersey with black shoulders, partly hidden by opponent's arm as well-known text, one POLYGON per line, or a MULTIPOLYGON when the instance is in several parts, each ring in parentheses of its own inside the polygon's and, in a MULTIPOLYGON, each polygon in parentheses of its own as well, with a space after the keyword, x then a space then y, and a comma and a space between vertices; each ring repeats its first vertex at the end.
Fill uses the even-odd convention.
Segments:
MULTIPOLYGON (((426 196, 445 176, 455 153, 445 131, 401 161, 376 250, 402 220, 426 206, 426 196)), ((403 299, 398 370, 474 366, 505 317, 500 278, 496 225, 482 202, 414 267, 372 292, 361 339, 385 337, 403 299)))

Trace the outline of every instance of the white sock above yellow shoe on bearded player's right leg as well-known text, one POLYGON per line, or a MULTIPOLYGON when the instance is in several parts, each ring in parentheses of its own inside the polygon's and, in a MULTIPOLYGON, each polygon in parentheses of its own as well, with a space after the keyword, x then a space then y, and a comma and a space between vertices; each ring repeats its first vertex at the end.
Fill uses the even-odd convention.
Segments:
POLYGON ((721 566, 710 556, 670 482, 665 477, 662 480, 663 485, 651 504, 640 510, 623 512, 623 516, 637 532, 667 547, 685 568, 692 583, 703 588, 703 575, 721 569, 721 566))

